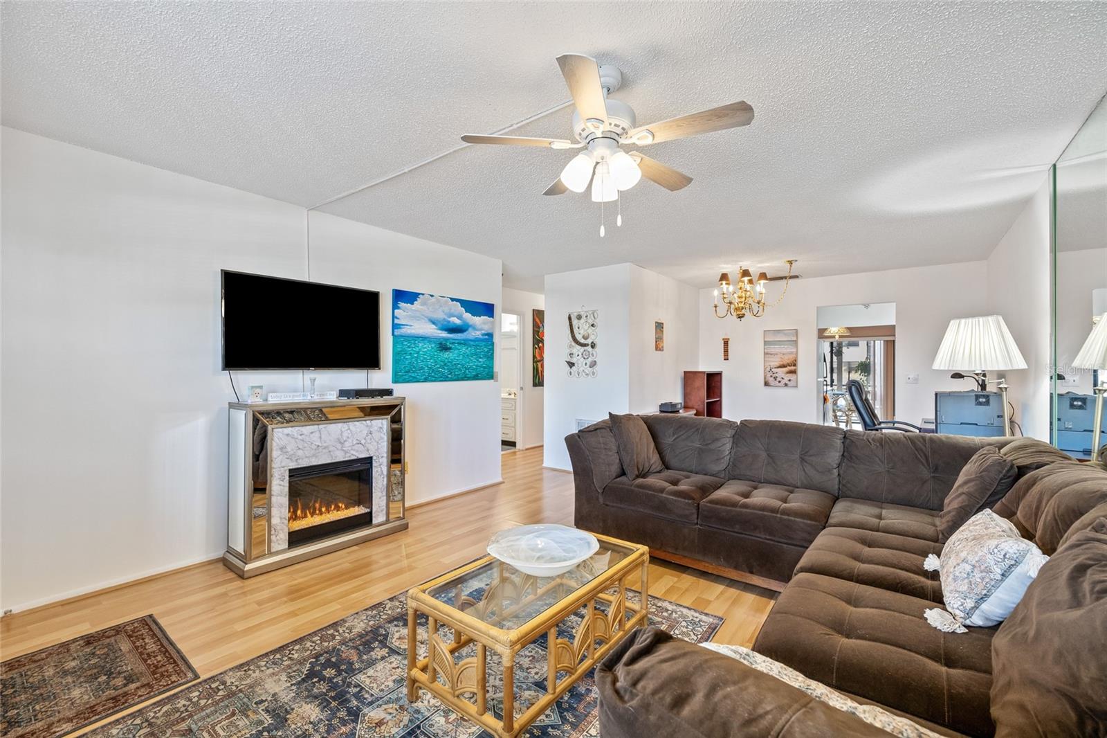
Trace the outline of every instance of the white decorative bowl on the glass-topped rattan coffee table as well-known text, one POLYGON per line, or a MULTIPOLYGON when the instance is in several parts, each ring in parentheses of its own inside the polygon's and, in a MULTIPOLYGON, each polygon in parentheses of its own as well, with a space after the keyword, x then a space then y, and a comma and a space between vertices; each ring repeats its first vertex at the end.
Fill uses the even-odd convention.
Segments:
POLYGON ((557 576, 600 549, 596 536, 566 525, 520 525, 488 541, 488 553, 524 574, 557 576))

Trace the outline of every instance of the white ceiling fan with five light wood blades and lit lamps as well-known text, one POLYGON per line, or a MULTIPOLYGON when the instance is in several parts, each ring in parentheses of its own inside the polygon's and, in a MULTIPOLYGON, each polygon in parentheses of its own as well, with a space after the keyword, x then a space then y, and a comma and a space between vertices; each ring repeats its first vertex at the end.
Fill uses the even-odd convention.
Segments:
MULTIPOLYGON (((617 66, 601 66, 591 57, 582 54, 562 54, 557 58, 557 63, 576 105, 572 113, 576 142, 528 136, 462 136, 462 141, 470 144, 583 148, 565 166, 561 176, 546 188, 544 195, 561 195, 570 189, 581 193, 591 183, 592 202, 609 203, 618 201, 621 191, 630 189, 643 176, 671 192, 683 189, 692 183, 692 177, 637 151, 627 153, 622 146, 648 146, 701 133, 736 129, 749 125, 754 120, 754 109, 741 101, 660 123, 638 125, 634 110, 630 105, 608 96, 622 83, 622 73, 617 66)), ((617 225, 622 225, 621 213, 617 225)), ((601 215, 600 236, 602 235, 601 215)))

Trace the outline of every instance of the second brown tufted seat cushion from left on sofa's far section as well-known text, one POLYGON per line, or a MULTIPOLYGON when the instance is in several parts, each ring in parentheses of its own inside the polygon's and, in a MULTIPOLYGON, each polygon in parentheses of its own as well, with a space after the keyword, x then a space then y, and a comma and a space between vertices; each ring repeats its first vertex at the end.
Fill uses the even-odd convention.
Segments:
POLYGON ((700 503, 700 524, 807 545, 823 530, 836 501, 818 490, 730 480, 700 503))

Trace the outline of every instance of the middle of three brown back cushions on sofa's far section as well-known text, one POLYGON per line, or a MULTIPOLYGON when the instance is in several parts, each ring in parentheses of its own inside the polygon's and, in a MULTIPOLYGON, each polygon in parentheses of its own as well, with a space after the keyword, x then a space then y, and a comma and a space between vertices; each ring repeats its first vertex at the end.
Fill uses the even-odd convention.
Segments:
POLYGON ((842 431, 785 420, 743 420, 734 435, 730 479, 838 494, 842 431))

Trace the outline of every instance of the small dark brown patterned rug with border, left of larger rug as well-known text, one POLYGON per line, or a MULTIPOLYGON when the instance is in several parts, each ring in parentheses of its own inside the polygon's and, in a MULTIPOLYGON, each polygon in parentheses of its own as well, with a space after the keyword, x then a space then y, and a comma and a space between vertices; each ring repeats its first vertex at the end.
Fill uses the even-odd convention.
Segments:
POLYGON ((146 615, 0 664, 0 736, 61 736, 196 676, 146 615))

